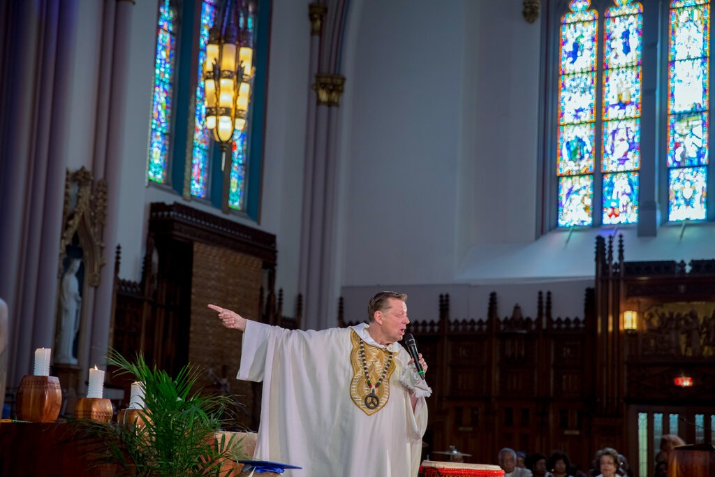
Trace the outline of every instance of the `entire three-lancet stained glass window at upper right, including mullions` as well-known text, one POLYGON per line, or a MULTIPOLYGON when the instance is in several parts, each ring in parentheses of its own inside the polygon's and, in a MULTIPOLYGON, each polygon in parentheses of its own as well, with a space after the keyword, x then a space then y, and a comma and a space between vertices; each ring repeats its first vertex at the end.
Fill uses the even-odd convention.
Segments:
POLYGON ((548 150, 556 159, 558 207, 555 217, 547 215, 553 220, 548 228, 636 224, 646 190, 646 202, 667 210, 661 222, 712 220, 706 194, 709 1, 553 4, 561 8, 558 36, 552 36, 558 127, 548 133, 554 143, 548 150), (657 45, 644 54, 646 29, 657 45))

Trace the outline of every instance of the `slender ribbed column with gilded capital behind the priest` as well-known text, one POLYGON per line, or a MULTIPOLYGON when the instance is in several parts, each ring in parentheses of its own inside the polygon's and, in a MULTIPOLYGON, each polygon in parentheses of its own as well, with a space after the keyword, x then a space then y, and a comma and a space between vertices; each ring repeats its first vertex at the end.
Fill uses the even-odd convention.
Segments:
POLYGON ((337 231, 337 164, 338 119, 345 77, 340 74, 342 28, 347 8, 345 0, 326 0, 311 4, 310 73, 315 77, 309 101, 305 154, 305 181, 300 245, 298 287, 304 301, 305 328, 335 326, 337 295, 335 292, 337 231))

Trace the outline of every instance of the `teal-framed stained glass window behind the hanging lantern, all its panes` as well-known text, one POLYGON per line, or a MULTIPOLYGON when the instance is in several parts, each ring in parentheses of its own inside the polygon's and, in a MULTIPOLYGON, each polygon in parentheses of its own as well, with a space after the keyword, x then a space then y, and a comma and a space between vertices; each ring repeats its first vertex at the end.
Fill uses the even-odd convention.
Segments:
POLYGON ((209 28, 221 11, 221 0, 184 0, 180 6, 176 0, 162 0, 159 6, 147 177, 152 183, 171 187, 186 200, 205 200, 214 207, 256 219, 270 0, 235 4, 242 6, 242 42, 253 46, 255 73, 247 124, 235 134, 230 180, 225 185, 222 155, 205 127, 202 74, 209 28), (179 15, 182 22, 177 32, 179 15))

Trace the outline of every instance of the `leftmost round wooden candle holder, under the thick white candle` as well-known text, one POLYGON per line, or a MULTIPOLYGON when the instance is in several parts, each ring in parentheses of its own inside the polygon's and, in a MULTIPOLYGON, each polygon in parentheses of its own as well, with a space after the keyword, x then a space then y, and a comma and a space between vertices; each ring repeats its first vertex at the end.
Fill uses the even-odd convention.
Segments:
POLYGON ((62 389, 56 376, 25 375, 17 389, 20 421, 54 423, 62 407, 62 389))

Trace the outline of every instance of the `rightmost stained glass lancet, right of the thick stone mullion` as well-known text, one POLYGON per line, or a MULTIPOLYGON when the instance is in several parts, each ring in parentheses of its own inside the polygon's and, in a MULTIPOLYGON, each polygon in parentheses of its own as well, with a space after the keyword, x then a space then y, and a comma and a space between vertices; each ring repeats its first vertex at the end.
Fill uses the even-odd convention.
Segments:
POLYGON ((704 220, 709 161, 710 2, 671 1, 668 220, 704 220))

